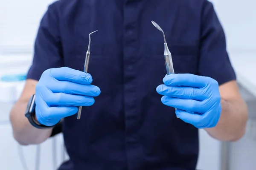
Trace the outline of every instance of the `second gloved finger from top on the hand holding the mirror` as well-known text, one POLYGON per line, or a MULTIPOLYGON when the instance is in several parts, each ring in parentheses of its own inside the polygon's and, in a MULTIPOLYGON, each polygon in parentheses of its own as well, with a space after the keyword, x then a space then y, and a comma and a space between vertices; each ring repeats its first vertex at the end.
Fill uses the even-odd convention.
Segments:
POLYGON ((208 97, 207 94, 204 93, 204 89, 201 88, 168 85, 159 85, 157 87, 157 93, 163 96, 176 97, 180 99, 194 99, 198 101, 203 101, 208 97))

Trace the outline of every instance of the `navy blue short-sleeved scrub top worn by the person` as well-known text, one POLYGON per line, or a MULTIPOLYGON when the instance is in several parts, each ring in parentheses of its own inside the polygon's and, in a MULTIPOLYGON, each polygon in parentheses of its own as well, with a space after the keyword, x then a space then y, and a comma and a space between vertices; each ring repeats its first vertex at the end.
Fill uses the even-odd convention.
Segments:
POLYGON ((59 170, 195 170, 198 129, 161 103, 165 31, 175 73, 236 79, 224 31, 207 0, 60 0, 41 20, 28 79, 48 68, 83 71, 101 89, 81 119, 64 119, 70 160, 59 170))

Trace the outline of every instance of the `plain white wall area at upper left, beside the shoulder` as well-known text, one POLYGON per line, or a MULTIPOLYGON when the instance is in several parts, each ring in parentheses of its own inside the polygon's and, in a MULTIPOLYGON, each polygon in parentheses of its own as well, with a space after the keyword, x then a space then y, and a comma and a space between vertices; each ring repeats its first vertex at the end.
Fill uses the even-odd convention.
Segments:
POLYGON ((0 54, 28 51, 33 43, 42 15, 53 0, 0 0, 0 54))

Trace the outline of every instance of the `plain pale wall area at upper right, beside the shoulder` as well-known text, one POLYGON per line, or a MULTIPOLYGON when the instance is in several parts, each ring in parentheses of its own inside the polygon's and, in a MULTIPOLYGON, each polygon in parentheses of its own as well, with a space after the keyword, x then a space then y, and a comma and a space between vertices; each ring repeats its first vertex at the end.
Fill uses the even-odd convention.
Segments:
POLYGON ((229 51, 256 51, 256 1, 211 1, 224 26, 229 51))

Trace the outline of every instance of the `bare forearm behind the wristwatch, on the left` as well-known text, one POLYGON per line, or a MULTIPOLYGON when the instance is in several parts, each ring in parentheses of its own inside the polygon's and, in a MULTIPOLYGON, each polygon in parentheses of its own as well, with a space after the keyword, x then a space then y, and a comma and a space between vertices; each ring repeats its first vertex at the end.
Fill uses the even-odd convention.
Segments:
POLYGON ((52 133, 52 129, 41 130, 33 127, 25 117, 26 101, 18 101, 12 108, 10 119, 13 136, 20 144, 39 144, 52 133))

